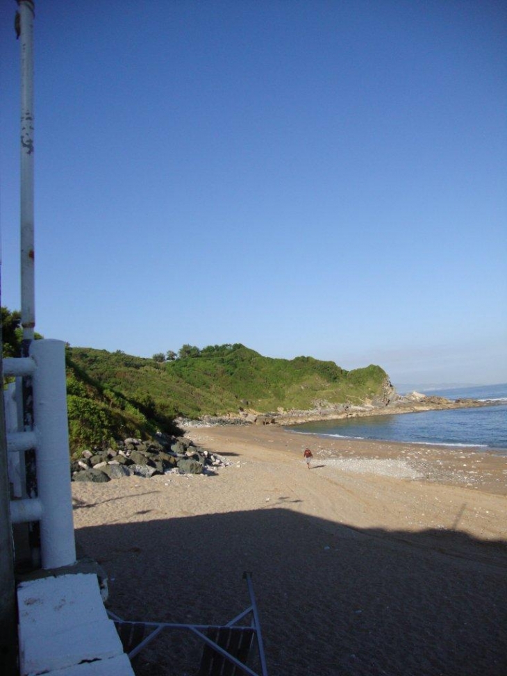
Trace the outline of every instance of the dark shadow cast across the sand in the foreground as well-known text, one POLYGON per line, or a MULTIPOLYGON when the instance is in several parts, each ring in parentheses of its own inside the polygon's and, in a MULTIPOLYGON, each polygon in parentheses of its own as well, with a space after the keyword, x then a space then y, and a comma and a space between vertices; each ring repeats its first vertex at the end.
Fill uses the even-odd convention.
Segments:
MULTIPOLYGON (((507 546, 458 531, 360 529, 283 506, 76 531, 129 620, 224 623, 253 586, 269 673, 504 676, 507 546), (135 552, 134 552, 135 547, 135 552)), ((194 674, 160 634, 137 676, 194 674)))

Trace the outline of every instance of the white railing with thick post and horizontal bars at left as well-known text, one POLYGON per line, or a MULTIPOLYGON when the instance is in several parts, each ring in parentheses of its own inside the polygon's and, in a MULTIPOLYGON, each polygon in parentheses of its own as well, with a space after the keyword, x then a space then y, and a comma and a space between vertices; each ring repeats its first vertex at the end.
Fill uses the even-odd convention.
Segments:
POLYGON ((10 501, 11 521, 40 522, 42 568, 71 566, 76 562, 76 545, 69 470, 65 343, 34 340, 30 356, 3 360, 3 373, 31 376, 33 387, 33 430, 19 431, 21 416, 13 402, 19 402, 20 397, 13 393, 12 386, 6 393, 7 448, 14 460, 9 463, 10 481, 19 485, 19 470, 16 470, 24 467, 19 459, 25 451, 33 449, 38 493, 37 497, 10 501))

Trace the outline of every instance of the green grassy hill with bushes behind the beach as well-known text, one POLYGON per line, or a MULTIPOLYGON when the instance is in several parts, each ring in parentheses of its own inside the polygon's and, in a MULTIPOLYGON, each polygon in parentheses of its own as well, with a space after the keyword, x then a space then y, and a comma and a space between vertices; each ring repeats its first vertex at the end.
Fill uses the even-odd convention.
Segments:
POLYGON ((261 356, 240 344, 209 346, 163 363, 71 347, 67 392, 72 446, 170 431, 177 415, 311 409, 319 401, 358 404, 381 399, 386 381, 379 366, 346 371, 312 357, 261 356))

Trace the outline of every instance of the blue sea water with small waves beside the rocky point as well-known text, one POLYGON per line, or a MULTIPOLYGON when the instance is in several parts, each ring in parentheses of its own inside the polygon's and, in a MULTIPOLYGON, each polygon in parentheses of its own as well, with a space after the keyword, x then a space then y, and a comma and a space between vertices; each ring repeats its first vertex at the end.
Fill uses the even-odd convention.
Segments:
POLYGON ((424 394, 479 399, 492 405, 306 422, 288 429, 317 436, 474 447, 507 455, 507 384, 424 390, 424 394))

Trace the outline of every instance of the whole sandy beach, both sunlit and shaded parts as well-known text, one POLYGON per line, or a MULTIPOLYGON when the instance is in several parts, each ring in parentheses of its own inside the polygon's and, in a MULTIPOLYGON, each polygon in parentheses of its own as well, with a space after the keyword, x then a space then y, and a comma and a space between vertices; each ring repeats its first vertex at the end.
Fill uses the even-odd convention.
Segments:
MULTIPOLYGON (((188 436, 231 464, 72 484, 119 616, 225 623, 250 570, 270 676, 507 673, 505 456, 271 426, 188 436)), ((135 671, 190 676, 200 651, 163 633, 135 671)))

